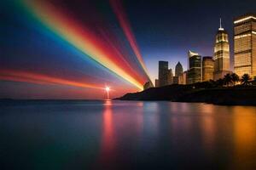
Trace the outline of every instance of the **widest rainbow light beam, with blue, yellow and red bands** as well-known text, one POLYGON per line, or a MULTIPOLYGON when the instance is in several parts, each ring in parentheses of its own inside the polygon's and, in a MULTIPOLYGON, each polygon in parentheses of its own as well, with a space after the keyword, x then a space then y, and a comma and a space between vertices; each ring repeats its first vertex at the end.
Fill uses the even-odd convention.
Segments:
MULTIPOLYGON (((57 36, 66 40, 73 47, 87 54, 91 59, 96 60, 96 62, 105 66, 110 71, 113 71, 119 77, 124 78, 127 82, 131 82, 131 84, 143 90, 144 82, 138 81, 139 78, 135 78, 131 76, 131 72, 128 73, 125 71, 122 68, 122 63, 114 62, 113 53, 102 48, 99 45, 101 44, 101 40, 88 29, 81 27, 79 23, 71 19, 68 15, 65 15, 65 13, 61 13, 61 10, 55 8, 50 3, 40 0, 24 0, 24 2, 26 9, 28 9, 27 12, 31 13, 57 36)), ((119 59, 119 56, 114 57, 115 59, 119 59)))

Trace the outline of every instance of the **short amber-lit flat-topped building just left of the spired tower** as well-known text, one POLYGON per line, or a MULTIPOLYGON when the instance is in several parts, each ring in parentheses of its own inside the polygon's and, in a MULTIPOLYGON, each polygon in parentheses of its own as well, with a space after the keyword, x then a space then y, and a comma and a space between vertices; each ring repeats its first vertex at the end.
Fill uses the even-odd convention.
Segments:
POLYGON ((214 60, 212 57, 203 57, 202 60, 202 82, 213 80, 214 60))

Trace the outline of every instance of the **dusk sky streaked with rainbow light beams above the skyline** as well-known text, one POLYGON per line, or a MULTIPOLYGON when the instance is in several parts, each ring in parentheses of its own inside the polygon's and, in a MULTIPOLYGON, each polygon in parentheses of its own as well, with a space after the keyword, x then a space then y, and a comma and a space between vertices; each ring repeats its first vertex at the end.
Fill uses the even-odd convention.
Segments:
MULTIPOLYGON (((222 26, 254 0, 12 0, 0 3, 0 98, 106 99, 142 90, 158 61, 212 56, 222 26)), ((232 68, 231 68, 232 70, 232 68)))

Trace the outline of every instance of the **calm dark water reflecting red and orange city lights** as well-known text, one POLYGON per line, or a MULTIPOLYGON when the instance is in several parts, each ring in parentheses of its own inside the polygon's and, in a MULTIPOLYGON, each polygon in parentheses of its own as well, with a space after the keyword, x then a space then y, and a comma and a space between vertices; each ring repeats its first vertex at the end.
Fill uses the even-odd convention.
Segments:
POLYGON ((256 169, 256 107, 0 103, 0 169, 256 169))

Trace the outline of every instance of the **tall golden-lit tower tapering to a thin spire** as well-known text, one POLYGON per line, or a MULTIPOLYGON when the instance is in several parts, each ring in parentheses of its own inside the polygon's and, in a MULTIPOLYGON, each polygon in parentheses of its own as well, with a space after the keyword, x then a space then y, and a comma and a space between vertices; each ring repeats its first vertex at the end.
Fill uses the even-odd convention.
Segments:
POLYGON ((215 37, 213 60, 214 80, 223 78, 227 73, 230 73, 230 42, 228 33, 221 26, 221 20, 215 37))

